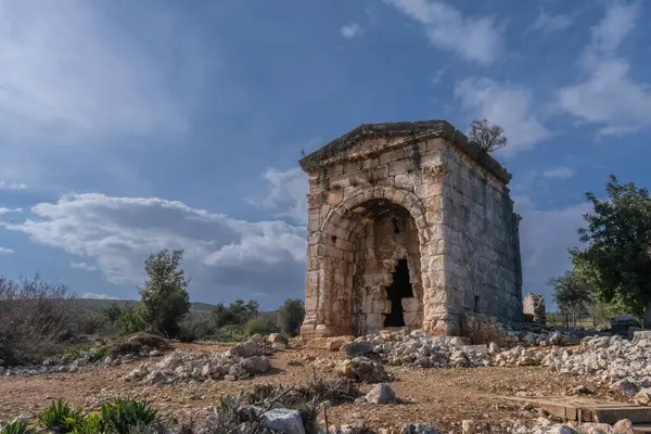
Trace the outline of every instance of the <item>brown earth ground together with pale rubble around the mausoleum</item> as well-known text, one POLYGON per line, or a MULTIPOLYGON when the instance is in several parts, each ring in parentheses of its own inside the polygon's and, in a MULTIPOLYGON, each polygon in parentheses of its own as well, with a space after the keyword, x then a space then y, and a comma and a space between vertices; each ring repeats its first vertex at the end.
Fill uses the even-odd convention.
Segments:
POLYGON ((171 350, 142 354, 142 359, 120 356, 117 366, 102 360, 73 372, 40 372, 39 367, 31 374, 5 372, 0 378, 0 420, 33 414, 52 399, 94 409, 126 394, 151 400, 179 421, 197 421, 212 413, 221 395, 234 396, 256 384, 304 385, 318 374, 365 380, 365 394, 376 382, 395 393, 392 398, 386 391, 374 392, 381 400, 388 396, 387 405, 358 399, 329 407, 331 426, 355 421, 391 433, 424 423, 461 433, 465 423, 465 432, 471 424, 475 433, 547 433, 561 431, 538 420, 544 414, 532 405, 505 397, 589 393, 602 400, 629 401, 648 385, 651 341, 567 339, 570 346, 559 347, 563 335, 531 337, 508 350, 418 333, 368 336, 340 350, 326 348, 336 349, 349 339, 317 348, 279 342, 276 350, 256 340, 235 347, 175 344, 171 350))

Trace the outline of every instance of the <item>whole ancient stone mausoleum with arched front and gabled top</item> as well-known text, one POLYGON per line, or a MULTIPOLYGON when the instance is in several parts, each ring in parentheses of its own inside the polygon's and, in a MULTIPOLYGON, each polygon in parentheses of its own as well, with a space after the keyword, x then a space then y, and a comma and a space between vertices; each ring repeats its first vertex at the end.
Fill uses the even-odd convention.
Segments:
POLYGON ((485 342, 522 319, 511 175, 450 124, 362 125, 301 166, 304 339, 408 327, 485 342))

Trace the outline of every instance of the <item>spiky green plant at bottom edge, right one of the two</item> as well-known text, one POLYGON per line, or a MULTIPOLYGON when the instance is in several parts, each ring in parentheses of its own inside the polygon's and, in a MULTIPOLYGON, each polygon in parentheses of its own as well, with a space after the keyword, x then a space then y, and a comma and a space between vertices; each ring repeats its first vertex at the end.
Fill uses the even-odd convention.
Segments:
POLYGON ((101 423, 105 431, 128 434, 135 426, 156 421, 158 411, 150 403, 118 397, 115 403, 102 404, 101 423))

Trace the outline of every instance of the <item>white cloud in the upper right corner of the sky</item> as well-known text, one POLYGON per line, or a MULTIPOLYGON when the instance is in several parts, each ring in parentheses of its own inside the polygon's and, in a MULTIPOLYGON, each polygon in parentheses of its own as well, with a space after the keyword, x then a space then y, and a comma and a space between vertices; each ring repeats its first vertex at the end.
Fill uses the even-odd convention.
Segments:
POLYGON ((599 125, 602 135, 621 136, 651 126, 651 84, 635 81, 630 62, 616 54, 639 14, 639 3, 611 3, 592 27, 591 41, 578 61, 585 78, 558 92, 562 110, 599 125))

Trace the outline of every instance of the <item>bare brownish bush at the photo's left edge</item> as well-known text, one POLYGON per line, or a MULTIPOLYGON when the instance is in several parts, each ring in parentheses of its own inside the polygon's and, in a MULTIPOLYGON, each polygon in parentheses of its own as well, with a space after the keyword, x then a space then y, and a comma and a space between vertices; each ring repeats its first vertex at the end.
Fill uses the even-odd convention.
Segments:
POLYGON ((67 286, 0 276, 0 357, 7 365, 41 362, 92 331, 97 314, 67 286))

